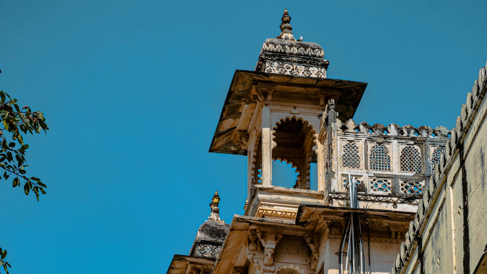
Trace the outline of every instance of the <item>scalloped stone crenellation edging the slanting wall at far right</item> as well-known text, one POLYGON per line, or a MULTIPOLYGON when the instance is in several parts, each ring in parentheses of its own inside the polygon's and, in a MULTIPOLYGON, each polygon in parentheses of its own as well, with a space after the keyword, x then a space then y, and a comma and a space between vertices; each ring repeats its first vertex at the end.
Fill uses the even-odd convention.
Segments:
MULTIPOLYGON (((450 170, 455 158, 460 153, 468 129, 485 97, 487 91, 486 78, 486 68, 481 68, 478 80, 475 80, 473 84, 472 92, 467 93, 466 104, 461 107, 461 116, 457 117, 456 127, 450 131, 450 142, 447 142, 445 150, 439 155, 439 162, 435 165, 434 173, 431 175, 430 187, 425 187, 422 191, 422 202, 418 205, 416 216, 409 225, 406 240, 401 243, 401 253, 397 255, 396 262, 393 264, 392 274, 405 273, 408 266, 407 263, 411 262, 415 250, 423 248, 421 243, 423 231, 445 183, 446 173, 450 170)), ((419 250, 419 252, 422 252, 422 250, 419 250)))

